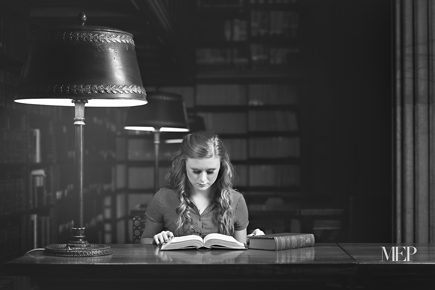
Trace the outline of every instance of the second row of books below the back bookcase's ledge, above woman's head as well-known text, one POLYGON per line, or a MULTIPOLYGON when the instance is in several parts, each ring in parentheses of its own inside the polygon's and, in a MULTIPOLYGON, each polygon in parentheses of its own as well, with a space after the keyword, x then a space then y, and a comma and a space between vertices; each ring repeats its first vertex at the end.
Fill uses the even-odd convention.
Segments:
POLYGON ((205 127, 218 134, 258 131, 297 131, 296 113, 288 111, 254 111, 246 113, 198 113, 205 127), (247 116, 248 115, 248 116, 247 116), (247 120, 248 119, 248 120, 247 120))

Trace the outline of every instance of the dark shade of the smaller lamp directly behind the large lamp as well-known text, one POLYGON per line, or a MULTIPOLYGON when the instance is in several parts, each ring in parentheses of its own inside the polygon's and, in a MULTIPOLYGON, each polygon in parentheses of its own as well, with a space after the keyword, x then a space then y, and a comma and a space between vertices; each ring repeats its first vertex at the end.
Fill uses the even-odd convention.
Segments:
POLYGON ((128 108, 124 129, 161 132, 187 132, 186 107, 177 93, 148 92, 146 106, 128 108))

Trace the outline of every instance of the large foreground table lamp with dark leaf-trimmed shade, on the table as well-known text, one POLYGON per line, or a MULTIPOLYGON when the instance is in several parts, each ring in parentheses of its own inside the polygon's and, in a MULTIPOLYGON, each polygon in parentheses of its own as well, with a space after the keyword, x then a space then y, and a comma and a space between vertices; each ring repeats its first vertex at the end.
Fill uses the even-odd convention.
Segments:
POLYGON ((147 103, 130 33, 80 24, 30 33, 30 50, 20 77, 18 103, 74 106, 77 218, 67 244, 49 245, 43 254, 61 257, 110 255, 107 245, 85 240, 83 223, 84 107, 131 107, 147 103))

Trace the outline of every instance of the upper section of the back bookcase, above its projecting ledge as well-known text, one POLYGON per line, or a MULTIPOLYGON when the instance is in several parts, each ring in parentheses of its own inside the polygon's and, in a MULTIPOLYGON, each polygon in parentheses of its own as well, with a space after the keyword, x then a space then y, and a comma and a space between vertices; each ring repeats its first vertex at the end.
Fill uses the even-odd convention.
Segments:
POLYGON ((197 76, 298 74, 302 64, 297 0, 197 0, 197 76))

